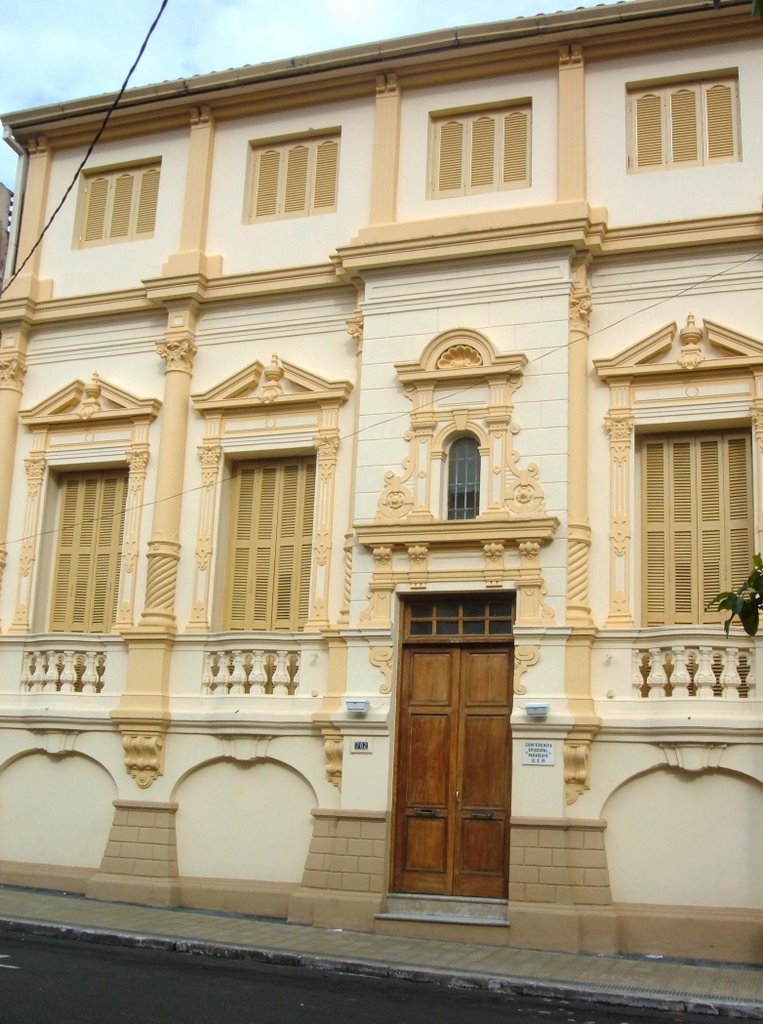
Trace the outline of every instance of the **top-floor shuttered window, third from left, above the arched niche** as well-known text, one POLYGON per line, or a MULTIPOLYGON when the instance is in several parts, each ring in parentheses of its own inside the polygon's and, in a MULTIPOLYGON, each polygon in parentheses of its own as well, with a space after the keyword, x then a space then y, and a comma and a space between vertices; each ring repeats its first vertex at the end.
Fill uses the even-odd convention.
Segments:
POLYGON ((431 196, 468 196, 531 182, 531 106, 432 118, 431 196))

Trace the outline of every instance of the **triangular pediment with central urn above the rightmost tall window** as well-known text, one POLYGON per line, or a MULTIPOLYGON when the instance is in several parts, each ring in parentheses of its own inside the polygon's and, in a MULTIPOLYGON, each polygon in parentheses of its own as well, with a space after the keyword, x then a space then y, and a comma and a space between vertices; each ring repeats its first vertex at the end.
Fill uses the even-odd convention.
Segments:
POLYGON ((654 374, 728 372, 763 367, 763 342, 712 321, 692 315, 682 328, 665 327, 618 355, 594 359, 602 380, 654 374))

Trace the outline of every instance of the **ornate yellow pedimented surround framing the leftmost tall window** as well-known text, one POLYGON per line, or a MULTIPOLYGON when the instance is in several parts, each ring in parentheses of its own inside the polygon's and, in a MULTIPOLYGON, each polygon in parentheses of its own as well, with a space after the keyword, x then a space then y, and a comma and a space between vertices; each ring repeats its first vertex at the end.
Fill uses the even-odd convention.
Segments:
POLYGON ((129 629, 134 621, 137 555, 149 463, 149 429, 159 415, 156 398, 136 398, 100 380, 75 380, 33 409, 19 414, 32 432, 32 450, 25 460, 27 500, 15 613, 9 633, 29 633, 34 595, 34 568, 49 470, 98 468, 115 463, 129 469, 122 544, 117 617, 113 631, 129 629))

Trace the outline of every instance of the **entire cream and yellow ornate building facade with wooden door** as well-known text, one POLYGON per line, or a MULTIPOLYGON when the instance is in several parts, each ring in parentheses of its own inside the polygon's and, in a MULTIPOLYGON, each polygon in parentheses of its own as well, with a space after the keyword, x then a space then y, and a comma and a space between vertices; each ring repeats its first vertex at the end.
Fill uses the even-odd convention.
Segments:
POLYGON ((759 962, 762 41, 134 89, 34 249, 111 97, 4 119, 0 882, 759 962))

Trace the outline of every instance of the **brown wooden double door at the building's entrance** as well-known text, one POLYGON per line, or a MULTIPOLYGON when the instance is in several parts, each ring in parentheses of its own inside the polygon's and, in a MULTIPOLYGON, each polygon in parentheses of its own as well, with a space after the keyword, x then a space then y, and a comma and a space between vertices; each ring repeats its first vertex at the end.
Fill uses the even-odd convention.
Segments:
POLYGON ((392 887, 505 899, 513 646, 463 626, 404 641, 392 887))

